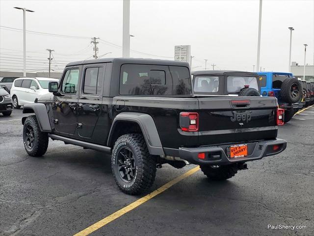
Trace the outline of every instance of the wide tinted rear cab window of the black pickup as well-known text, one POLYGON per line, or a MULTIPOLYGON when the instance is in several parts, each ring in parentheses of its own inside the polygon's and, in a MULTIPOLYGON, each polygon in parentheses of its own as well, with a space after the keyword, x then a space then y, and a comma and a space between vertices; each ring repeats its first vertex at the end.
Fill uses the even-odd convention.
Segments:
POLYGON ((183 66, 124 64, 120 72, 121 95, 189 95, 189 70, 183 66))

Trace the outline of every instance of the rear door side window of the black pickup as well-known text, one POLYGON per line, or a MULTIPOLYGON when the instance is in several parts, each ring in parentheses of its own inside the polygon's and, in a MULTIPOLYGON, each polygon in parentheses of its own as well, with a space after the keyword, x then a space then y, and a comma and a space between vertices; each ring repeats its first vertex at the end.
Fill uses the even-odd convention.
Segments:
POLYGON ((103 87, 103 67, 91 67, 85 69, 84 94, 100 94, 103 87))

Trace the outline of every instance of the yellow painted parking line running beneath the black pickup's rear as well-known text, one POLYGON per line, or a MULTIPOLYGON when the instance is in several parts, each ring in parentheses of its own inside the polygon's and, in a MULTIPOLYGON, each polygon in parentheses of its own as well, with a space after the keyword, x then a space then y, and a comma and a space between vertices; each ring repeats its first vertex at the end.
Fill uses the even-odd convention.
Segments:
POLYGON ((157 196, 158 194, 162 193, 163 191, 167 190, 168 188, 170 188, 172 185, 178 183, 179 181, 181 181, 182 179, 189 177, 190 175, 194 174, 195 172, 197 172, 200 169, 199 166, 185 172, 183 175, 176 177, 175 179, 171 180, 170 182, 167 182, 166 184, 162 185, 160 188, 156 189, 155 191, 151 192, 150 194, 147 194, 146 196, 136 200, 135 202, 131 203, 130 205, 123 207, 122 209, 112 213, 111 215, 105 217, 104 219, 96 222, 95 224, 87 227, 86 229, 78 232, 77 234, 75 234, 74 236, 86 236, 89 235, 91 233, 93 233, 94 231, 102 228, 103 226, 105 226, 106 224, 110 223, 111 221, 119 218, 120 216, 124 215, 125 213, 131 211, 132 209, 142 205, 143 203, 147 202, 148 200, 154 198, 155 196, 157 196))

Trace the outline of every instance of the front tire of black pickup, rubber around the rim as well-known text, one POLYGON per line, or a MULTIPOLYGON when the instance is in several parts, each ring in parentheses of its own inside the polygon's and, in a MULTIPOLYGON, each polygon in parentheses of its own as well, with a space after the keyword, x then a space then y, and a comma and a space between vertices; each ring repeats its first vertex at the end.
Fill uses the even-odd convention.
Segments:
POLYGON ((36 116, 29 116, 25 119, 23 127, 23 143, 25 150, 30 156, 42 156, 46 153, 48 148, 48 134, 41 132, 39 128, 36 116), (33 130, 33 146, 29 147, 27 145, 27 132, 28 129, 33 130))

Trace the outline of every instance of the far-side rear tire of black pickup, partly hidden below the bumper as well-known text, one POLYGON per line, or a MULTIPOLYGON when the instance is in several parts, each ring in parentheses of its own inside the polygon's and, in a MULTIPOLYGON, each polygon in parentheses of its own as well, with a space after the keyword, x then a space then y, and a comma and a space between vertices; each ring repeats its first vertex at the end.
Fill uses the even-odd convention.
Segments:
POLYGON ((223 165, 223 166, 200 166, 204 175, 206 175, 210 180, 225 180, 234 177, 237 173, 237 166, 235 164, 223 165))

